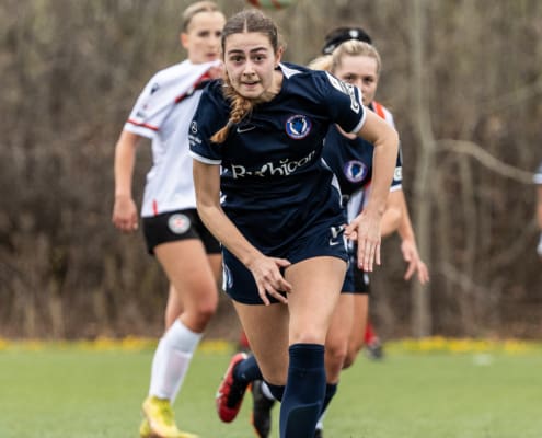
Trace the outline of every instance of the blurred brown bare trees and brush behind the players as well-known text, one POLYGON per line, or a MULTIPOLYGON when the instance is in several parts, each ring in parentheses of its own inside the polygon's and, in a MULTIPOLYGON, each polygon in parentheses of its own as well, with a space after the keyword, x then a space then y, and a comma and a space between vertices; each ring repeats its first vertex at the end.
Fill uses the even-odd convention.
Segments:
MULTIPOLYGON (((227 13, 245 4, 218 2, 227 13)), ((184 57, 188 3, 0 3, 2 335, 160 332, 163 275, 140 234, 111 224, 113 151, 150 76, 184 57)), ((343 24, 366 27, 382 55, 378 97, 395 115, 433 276, 425 289, 404 283, 400 242, 385 242, 372 296, 381 333, 540 336, 530 172, 542 160, 542 2, 299 0, 269 14, 287 60, 308 62, 343 24)), ((138 197, 149 160, 142 148, 138 197)), ((235 335, 235 324, 223 299, 210 334, 235 335)))

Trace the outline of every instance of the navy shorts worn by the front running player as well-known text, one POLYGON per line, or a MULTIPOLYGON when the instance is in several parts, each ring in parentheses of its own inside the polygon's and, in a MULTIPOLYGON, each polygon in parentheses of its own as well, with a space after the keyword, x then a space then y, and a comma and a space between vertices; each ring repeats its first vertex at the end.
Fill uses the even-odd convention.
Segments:
MULTIPOLYGON (((332 228, 327 224, 314 227, 305 234, 300 235, 286 254, 269 254, 269 256, 286 258, 292 265, 319 256, 332 256, 348 262, 343 230, 341 227, 332 228), (337 232, 337 230, 339 231, 337 232)), ((222 249, 222 263, 226 293, 243 304, 263 304, 252 273, 227 249, 222 249)), ((268 298, 270 302, 278 302, 270 296, 268 298)))

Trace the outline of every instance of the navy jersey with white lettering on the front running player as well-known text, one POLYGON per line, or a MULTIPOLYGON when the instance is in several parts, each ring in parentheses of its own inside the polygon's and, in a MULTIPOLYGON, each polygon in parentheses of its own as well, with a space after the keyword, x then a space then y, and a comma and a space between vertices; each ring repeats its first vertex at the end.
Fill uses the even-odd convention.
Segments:
POLYGON ((359 91, 324 71, 280 65, 280 92, 255 105, 222 143, 210 137, 229 119, 220 81, 201 95, 191 126, 191 153, 222 166, 222 208, 267 255, 280 256, 313 224, 345 221, 333 172, 322 160, 324 137, 337 123, 357 132, 365 122, 359 91))

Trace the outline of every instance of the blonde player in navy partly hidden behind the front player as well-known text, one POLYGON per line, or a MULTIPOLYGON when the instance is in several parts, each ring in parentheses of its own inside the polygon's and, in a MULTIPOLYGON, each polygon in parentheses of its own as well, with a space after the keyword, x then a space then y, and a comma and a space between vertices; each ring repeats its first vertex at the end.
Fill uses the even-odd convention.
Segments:
MULTIPOLYGON (((370 38, 359 27, 343 27, 333 31, 326 37, 326 45, 323 49, 324 54, 330 55, 318 58, 310 67, 331 71, 338 79, 358 87, 362 90, 364 104, 394 126, 391 113, 373 100, 380 77, 381 60, 377 49, 366 41, 370 38)), ((344 132, 336 125, 330 128, 323 157, 337 176, 349 219, 357 216, 370 198, 372 154, 373 147, 369 142, 344 132)), ((417 253, 401 186, 401 154, 399 154, 387 210, 382 218, 382 235, 399 231, 403 240, 403 254, 410 263, 405 278, 410 278, 414 272, 417 272, 419 281, 425 283, 428 280, 427 267, 417 253)), ((369 284, 367 274, 356 267, 356 252, 351 251, 350 254, 351 263, 325 343, 327 391, 324 408, 336 392, 341 370, 353 365, 364 344, 369 284)), ((270 429, 272 402, 265 383, 254 382, 252 393, 254 399, 253 426, 261 438, 266 438, 270 429)), ((315 437, 322 436, 322 423, 319 422, 315 437)))

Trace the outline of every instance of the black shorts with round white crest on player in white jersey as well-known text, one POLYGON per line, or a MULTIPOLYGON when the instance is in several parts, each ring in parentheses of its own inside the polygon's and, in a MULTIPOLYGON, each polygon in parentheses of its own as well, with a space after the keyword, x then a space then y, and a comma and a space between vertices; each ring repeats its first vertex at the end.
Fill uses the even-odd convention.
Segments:
POLYGON ((207 230, 195 208, 143 218, 143 234, 149 254, 161 243, 198 239, 207 254, 220 254, 220 243, 207 230))

